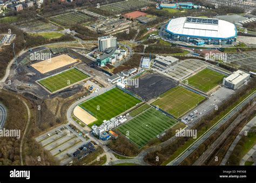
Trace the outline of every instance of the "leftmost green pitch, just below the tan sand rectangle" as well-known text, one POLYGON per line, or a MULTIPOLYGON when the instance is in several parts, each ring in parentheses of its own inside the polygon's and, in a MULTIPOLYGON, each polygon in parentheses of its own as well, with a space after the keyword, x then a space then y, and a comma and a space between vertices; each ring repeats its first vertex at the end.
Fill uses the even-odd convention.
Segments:
POLYGON ((53 75, 49 78, 40 80, 39 83, 41 83, 41 85, 43 85, 49 91, 54 92, 64 87, 70 86, 73 83, 82 81, 88 77, 88 75, 84 74, 78 69, 71 68, 57 75, 53 75))

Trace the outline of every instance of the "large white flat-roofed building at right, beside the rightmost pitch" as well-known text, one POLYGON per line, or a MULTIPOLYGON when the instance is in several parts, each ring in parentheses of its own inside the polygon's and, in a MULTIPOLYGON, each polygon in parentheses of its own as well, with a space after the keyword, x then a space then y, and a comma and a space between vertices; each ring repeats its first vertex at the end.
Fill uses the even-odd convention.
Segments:
POLYGON ((244 85, 250 79, 250 74, 243 71, 235 71, 233 74, 224 78, 223 85, 227 88, 237 89, 244 85))

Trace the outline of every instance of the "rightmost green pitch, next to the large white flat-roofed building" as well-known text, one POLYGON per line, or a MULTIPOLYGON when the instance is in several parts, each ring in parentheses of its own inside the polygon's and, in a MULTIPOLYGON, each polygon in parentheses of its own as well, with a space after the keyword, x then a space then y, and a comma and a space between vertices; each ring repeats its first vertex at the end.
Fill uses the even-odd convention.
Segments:
MULTIPOLYGON (((193 86, 201 91, 207 92, 215 86, 222 83, 224 74, 220 74, 211 69, 205 68, 199 73, 187 79, 188 85, 193 86)), ((183 81, 183 82, 186 82, 183 81)))

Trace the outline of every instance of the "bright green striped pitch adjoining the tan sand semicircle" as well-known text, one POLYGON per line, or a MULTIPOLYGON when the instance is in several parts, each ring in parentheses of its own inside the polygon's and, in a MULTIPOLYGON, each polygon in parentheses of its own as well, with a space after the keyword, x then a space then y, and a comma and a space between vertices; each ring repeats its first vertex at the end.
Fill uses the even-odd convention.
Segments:
POLYGON ((97 121, 89 124, 91 127, 93 124, 102 124, 104 120, 109 120, 140 102, 140 100, 126 94, 124 91, 113 88, 102 95, 79 104, 79 106, 97 118, 97 121))

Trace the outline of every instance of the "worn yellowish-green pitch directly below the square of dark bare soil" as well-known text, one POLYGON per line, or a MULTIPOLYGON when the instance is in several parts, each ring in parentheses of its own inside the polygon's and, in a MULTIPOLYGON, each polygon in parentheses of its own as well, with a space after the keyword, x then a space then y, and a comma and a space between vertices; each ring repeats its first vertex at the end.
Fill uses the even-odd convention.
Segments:
POLYGON ((154 101, 153 104, 178 118, 196 107, 204 99, 204 96, 178 86, 160 95, 160 98, 154 101))

